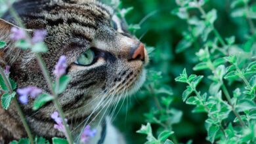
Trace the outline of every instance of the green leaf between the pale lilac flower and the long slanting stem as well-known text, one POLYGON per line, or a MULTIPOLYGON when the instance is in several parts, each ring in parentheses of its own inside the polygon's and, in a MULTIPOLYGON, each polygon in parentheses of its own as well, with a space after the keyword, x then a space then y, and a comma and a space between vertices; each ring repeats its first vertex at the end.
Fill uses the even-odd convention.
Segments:
POLYGON ((53 96, 46 93, 40 94, 39 96, 37 96, 37 98, 33 102, 33 110, 35 111, 39 109, 40 107, 45 105, 45 103, 52 100, 53 100, 53 96))

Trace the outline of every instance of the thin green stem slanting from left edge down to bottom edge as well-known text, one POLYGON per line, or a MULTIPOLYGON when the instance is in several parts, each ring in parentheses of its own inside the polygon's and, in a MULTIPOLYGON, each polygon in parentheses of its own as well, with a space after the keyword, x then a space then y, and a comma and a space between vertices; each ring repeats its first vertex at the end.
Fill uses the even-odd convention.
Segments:
MULTIPOLYGON (((0 73, 1 73, 1 76, 3 77, 3 81, 5 81, 5 85, 7 86, 9 93, 12 94, 13 90, 12 90, 11 82, 6 77, 5 72, 3 71, 2 67, 0 67, 0 73)), ((16 110, 18 111, 20 120, 22 121, 22 124, 26 130, 28 138, 30 139, 30 142, 33 144, 33 135, 32 135, 32 132, 30 131, 30 127, 28 126, 28 123, 26 122, 26 117, 24 116, 24 113, 22 112, 22 109, 21 109, 20 105, 18 104, 18 100, 16 99, 16 97, 13 99, 13 101, 14 101, 14 106, 15 106, 16 110)))

